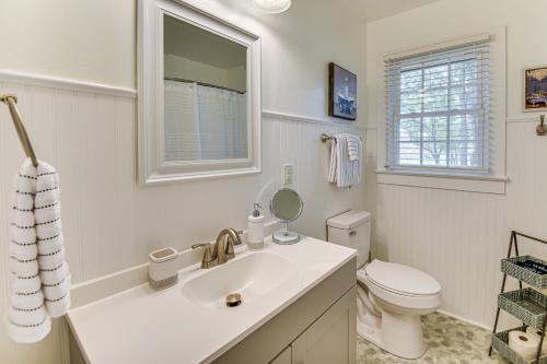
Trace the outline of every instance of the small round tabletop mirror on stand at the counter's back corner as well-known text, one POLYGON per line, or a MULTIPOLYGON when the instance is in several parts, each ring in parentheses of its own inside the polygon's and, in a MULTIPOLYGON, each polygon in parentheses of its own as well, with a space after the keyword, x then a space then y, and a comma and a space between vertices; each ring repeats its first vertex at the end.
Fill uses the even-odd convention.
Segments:
POLYGON ((282 230, 274 233, 274 243, 287 245, 300 240, 300 235, 290 232, 288 225, 300 218, 303 209, 302 198, 291 188, 281 188, 271 197, 270 212, 280 223, 284 224, 282 230))

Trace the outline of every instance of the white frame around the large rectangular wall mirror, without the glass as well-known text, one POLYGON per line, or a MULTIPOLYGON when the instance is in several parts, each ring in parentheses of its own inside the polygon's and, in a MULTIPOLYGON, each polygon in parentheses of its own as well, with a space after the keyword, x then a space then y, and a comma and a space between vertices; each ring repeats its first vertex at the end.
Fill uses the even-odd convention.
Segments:
POLYGON ((138 171, 140 185, 260 173, 260 38, 175 0, 139 0, 138 171), (242 160, 166 163, 163 141, 163 15, 207 30, 247 48, 247 145, 242 160))

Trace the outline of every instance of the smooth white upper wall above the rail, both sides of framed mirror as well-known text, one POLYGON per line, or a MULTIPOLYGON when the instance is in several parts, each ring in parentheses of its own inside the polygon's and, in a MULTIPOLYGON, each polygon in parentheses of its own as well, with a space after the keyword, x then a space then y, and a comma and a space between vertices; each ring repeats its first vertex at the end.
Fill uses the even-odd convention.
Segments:
MULTIPOLYGON (((188 0, 263 38, 263 108, 324 118, 327 63, 359 78, 364 108, 363 4, 294 1, 281 15, 258 13, 251 0, 188 0)), ((137 0, 0 1, 0 69, 135 87, 137 0)), ((361 111, 359 121, 363 122, 361 111)))

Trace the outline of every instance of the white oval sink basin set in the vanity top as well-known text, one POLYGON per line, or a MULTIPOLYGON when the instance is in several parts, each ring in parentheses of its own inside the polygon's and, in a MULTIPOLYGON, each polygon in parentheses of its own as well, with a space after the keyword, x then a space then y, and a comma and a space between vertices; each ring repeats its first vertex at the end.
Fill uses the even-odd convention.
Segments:
POLYGON ((191 302, 211 308, 229 309, 225 298, 242 295, 242 304, 263 297, 298 274, 289 259, 268 251, 256 251, 203 271, 187 281, 183 294, 191 302))

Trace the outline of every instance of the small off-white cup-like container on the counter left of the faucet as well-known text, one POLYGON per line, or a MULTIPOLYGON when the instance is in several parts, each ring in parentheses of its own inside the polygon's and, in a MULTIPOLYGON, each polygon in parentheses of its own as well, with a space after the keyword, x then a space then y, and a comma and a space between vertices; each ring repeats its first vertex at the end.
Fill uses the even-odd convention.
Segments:
POLYGON ((175 285, 178 281, 178 253, 175 248, 162 248, 149 255, 148 278, 154 290, 175 285))

